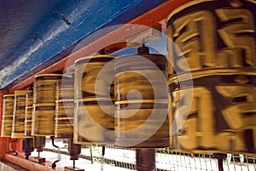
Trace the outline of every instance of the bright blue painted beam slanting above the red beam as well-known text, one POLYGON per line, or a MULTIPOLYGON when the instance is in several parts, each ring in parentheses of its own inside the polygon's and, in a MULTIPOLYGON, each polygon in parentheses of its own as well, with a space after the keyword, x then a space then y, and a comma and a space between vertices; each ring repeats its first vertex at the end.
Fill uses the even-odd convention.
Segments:
POLYGON ((11 66, 0 71, 0 88, 9 88, 70 54, 76 43, 104 26, 125 24, 166 0, 63 1, 19 47, 6 57, 11 66))

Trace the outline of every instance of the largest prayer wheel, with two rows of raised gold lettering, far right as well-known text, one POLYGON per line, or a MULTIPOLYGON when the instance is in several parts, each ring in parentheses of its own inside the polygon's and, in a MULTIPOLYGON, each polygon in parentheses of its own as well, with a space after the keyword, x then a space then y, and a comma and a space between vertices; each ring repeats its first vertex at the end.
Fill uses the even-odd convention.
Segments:
POLYGON ((173 150, 255 156, 255 9, 250 0, 200 0, 168 17, 173 150))

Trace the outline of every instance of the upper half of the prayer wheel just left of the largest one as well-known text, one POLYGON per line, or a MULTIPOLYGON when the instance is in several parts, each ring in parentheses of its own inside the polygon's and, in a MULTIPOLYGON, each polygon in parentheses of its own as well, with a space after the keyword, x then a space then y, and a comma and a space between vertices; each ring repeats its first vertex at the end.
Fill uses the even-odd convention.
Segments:
POLYGON ((115 100, 127 100, 128 93, 130 93, 131 100, 141 99, 141 96, 143 100, 166 98, 166 91, 162 91, 166 85, 163 84, 163 80, 159 76, 163 74, 166 77, 167 74, 165 56, 137 54, 119 57, 114 60, 114 71, 115 100), (136 89, 141 96, 132 94, 130 92, 132 89, 136 89))

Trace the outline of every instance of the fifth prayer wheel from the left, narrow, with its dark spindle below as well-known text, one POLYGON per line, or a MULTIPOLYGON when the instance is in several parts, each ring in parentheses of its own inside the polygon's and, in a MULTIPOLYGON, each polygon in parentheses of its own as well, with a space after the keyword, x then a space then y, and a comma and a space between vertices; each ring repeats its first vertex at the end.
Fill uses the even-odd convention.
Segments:
POLYGON ((68 138, 68 154, 73 160, 73 167, 64 170, 84 170, 75 168, 75 160, 79 160, 81 145, 73 143, 73 113, 74 113, 74 81, 73 77, 63 77, 55 83, 55 138, 68 138))

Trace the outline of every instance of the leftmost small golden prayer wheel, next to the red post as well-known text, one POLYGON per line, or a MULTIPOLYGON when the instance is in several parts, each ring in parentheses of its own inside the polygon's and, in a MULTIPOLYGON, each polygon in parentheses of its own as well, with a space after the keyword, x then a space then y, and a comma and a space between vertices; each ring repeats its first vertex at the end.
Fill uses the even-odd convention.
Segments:
POLYGON ((2 137, 11 137, 12 135, 14 107, 15 94, 3 95, 2 137))

